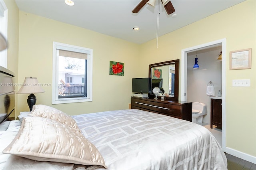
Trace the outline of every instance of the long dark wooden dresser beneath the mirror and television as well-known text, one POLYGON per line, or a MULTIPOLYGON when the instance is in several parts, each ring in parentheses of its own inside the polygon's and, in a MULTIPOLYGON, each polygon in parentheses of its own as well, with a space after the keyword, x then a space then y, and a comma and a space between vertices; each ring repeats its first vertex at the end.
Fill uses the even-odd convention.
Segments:
POLYGON ((160 113, 192 122, 192 102, 132 97, 131 109, 160 113))

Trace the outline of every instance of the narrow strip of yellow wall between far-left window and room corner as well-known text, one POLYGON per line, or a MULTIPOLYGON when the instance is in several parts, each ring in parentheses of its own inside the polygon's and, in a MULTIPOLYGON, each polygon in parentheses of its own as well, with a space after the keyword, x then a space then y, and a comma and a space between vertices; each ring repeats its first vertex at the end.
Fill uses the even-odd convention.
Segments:
MULTIPOLYGON (((7 49, 7 68, 14 72, 16 81, 18 80, 18 50, 19 50, 19 8, 15 1, 4 1, 8 9, 8 49, 7 49)), ((16 86, 16 91, 18 87, 16 86)), ((17 94, 16 94, 17 97, 17 94)), ((15 101, 17 108, 18 100, 15 101)), ((17 113, 15 110, 10 117, 17 113)))

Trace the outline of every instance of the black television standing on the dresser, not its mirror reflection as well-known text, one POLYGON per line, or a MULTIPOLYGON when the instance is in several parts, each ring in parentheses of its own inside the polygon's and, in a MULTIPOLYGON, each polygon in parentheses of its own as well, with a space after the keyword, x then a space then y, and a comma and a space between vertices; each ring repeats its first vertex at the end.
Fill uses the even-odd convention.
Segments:
POLYGON ((152 79, 146 78, 133 78, 132 79, 132 93, 148 94, 152 91, 152 79))

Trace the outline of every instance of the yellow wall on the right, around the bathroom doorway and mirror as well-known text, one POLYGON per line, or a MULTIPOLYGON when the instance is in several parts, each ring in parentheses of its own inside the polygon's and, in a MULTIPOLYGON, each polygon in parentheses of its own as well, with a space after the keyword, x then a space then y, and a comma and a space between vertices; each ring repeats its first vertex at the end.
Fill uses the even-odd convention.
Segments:
MULTIPOLYGON (((181 59, 181 50, 226 38, 226 147, 256 156, 256 1, 242 2, 198 22, 144 43, 141 72, 148 64, 181 59), (252 69, 229 70, 229 51, 252 48, 252 69), (232 87, 250 79, 250 87, 232 87)), ((181 68, 181 67, 180 67, 181 68)), ((180 70, 181 71, 181 70, 180 70)), ((180 91, 180 89, 179 89, 180 91)))

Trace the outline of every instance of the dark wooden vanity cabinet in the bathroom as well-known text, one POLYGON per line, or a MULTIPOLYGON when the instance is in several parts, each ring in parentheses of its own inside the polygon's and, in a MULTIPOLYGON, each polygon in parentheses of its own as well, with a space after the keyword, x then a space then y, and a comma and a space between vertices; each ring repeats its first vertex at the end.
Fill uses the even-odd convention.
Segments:
POLYGON ((211 99, 211 125, 222 128, 222 100, 211 99))

